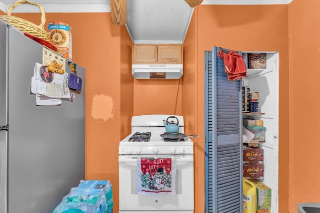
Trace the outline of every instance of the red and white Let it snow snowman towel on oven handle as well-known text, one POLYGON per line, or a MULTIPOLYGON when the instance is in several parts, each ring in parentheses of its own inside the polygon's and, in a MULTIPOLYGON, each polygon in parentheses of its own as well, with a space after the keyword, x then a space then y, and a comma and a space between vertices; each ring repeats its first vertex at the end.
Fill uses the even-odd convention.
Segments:
POLYGON ((175 195, 175 158, 138 158, 138 195, 175 195))

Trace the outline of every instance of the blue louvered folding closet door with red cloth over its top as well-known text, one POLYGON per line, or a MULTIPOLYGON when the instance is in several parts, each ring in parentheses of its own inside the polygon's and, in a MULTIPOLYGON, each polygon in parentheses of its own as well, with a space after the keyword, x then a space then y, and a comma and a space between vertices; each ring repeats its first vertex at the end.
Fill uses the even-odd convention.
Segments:
POLYGON ((205 212, 241 213, 242 87, 228 81, 219 51, 205 51, 205 212))

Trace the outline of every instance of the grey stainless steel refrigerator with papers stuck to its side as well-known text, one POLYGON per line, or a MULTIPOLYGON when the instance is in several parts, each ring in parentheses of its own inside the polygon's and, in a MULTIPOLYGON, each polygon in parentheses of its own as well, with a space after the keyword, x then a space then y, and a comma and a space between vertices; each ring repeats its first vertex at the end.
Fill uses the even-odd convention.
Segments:
POLYGON ((0 20, 0 213, 51 213, 84 180, 85 69, 74 102, 36 106, 42 47, 0 20))

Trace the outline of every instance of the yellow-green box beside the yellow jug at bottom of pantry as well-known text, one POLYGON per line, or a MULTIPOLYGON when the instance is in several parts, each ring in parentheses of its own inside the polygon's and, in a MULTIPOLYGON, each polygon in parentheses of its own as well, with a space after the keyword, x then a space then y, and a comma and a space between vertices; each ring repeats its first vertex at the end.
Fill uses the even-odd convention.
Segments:
POLYGON ((256 213, 271 212, 271 189, 258 180, 251 180, 256 188, 256 213))

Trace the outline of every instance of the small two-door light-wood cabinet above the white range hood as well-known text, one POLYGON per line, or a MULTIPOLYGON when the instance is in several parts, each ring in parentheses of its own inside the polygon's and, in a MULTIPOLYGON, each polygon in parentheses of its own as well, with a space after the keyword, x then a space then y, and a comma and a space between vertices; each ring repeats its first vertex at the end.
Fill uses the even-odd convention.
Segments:
POLYGON ((182 44, 132 44, 132 63, 181 64, 182 44))

